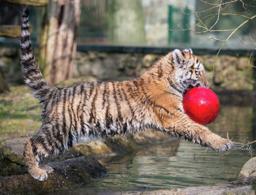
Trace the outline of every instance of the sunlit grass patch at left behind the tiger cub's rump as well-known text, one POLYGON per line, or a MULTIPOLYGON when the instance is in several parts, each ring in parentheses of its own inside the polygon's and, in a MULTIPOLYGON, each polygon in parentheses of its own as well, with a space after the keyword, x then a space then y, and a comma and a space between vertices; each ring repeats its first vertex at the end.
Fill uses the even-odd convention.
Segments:
POLYGON ((0 143, 35 134, 41 126, 41 105, 25 85, 11 86, 0 95, 0 143))

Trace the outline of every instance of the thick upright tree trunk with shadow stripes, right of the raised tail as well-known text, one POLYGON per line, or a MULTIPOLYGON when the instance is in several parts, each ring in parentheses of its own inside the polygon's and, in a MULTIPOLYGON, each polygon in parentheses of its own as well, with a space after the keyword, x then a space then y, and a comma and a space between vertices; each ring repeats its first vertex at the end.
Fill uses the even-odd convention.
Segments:
POLYGON ((41 39, 40 68, 49 84, 72 77, 80 0, 50 0, 41 39))

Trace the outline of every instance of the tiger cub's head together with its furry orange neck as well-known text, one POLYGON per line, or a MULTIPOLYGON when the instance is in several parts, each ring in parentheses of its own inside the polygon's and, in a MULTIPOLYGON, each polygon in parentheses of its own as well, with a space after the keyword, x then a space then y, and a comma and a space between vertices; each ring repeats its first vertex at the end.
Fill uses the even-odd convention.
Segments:
POLYGON ((190 87, 208 87, 203 63, 191 49, 168 53, 160 58, 143 75, 150 89, 176 91, 183 95, 190 87))

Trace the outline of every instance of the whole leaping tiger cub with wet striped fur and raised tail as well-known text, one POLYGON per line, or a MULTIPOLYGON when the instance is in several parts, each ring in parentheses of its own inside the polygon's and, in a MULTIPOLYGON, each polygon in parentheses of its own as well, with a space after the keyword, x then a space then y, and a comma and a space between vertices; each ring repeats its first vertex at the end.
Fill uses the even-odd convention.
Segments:
POLYGON ((89 82, 67 88, 46 83, 38 68, 28 23, 22 14, 21 65, 25 82, 43 103, 42 126, 24 143, 28 172, 40 181, 53 169, 39 160, 72 147, 84 136, 114 136, 146 128, 167 132, 217 151, 232 148, 230 140, 193 122, 184 112, 189 87, 208 87, 204 67, 191 49, 168 53, 140 78, 122 82, 89 82))

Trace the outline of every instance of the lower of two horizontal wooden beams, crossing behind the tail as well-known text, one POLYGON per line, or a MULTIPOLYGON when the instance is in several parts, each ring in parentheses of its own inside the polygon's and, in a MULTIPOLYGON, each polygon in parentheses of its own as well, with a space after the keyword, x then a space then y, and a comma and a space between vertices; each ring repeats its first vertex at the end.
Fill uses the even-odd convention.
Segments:
MULTIPOLYGON (((29 26, 30 33, 32 33, 32 27, 29 26)), ((21 26, 15 25, 1 25, 0 36, 17 38, 21 35, 21 26)))

